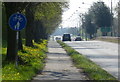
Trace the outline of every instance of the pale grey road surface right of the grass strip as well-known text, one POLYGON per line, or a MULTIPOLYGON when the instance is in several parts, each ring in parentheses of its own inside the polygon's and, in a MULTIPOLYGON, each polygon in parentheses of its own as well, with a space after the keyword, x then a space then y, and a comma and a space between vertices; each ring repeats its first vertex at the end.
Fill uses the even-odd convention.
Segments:
POLYGON ((66 44, 118 78, 118 44, 103 41, 66 41, 66 44))

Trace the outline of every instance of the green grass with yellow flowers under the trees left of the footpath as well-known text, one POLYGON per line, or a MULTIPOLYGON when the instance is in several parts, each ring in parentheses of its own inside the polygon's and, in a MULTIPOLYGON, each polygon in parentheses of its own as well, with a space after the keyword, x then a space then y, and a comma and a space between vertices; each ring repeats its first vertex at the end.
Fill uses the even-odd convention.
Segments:
POLYGON ((2 48, 2 80, 31 80, 37 72, 44 68, 47 41, 34 43, 36 47, 23 46, 24 51, 19 51, 18 67, 14 63, 5 62, 6 48, 2 48))

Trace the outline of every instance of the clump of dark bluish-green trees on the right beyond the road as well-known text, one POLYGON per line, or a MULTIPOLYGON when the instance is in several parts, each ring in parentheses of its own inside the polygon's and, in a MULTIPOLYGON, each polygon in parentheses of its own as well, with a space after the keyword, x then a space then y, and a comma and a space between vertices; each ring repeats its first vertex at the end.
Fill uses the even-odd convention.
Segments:
POLYGON ((96 37, 98 29, 102 36, 107 36, 108 33, 115 36, 115 32, 117 32, 116 36, 119 36, 118 31, 115 31, 118 28, 115 23, 117 18, 113 16, 112 10, 102 1, 94 2, 88 12, 80 15, 80 17, 82 17, 82 28, 89 34, 90 39, 96 37))

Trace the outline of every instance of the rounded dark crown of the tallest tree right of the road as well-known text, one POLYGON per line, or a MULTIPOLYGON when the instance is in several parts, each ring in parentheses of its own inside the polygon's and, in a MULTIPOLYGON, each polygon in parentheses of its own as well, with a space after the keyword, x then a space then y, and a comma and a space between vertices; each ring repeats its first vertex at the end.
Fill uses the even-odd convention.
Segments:
POLYGON ((104 2, 94 3, 89 9, 93 14, 94 22, 99 27, 110 27, 111 26, 111 13, 110 9, 104 4, 104 2))

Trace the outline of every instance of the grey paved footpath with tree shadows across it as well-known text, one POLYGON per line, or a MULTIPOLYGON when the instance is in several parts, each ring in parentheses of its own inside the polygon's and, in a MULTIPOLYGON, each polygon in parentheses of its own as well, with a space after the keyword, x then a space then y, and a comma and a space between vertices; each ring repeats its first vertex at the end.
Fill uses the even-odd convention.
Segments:
POLYGON ((48 42, 46 66, 33 80, 88 80, 81 69, 73 66, 70 56, 55 41, 48 42))

